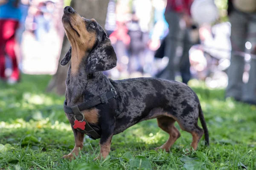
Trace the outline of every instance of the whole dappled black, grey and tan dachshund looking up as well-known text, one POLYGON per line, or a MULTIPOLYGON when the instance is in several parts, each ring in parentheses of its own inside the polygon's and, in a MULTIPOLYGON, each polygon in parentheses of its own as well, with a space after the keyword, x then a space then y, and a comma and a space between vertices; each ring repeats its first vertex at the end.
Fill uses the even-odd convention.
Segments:
MULTIPOLYGON (((112 88, 116 91, 116 96, 107 102, 80 112, 87 124, 100 135, 99 159, 109 155, 113 135, 138 122, 154 118, 157 118, 158 126, 169 134, 167 142, 158 147, 160 149, 169 151, 180 137, 179 130, 174 126, 175 121, 182 130, 192 134, 191 146, 194 150, 203 134, 209 145, 201 105, 191 88, 181 82, 157 78, 108 79, 102 71, 114 68, 117 59, 103 28, 96 20, 81 17, 70 6, 64 8, 62 23, 71 44, 60 62, 63 66, 71 60, 66 79, 67 107, 93 100, 112 88), (198 118, 203 129, 198 127, 198 118)), ((74 159, 83 147, 84 133, 74 128, 76 116, 65 113, 74 133, 75 147, 63 157, 74 159)))

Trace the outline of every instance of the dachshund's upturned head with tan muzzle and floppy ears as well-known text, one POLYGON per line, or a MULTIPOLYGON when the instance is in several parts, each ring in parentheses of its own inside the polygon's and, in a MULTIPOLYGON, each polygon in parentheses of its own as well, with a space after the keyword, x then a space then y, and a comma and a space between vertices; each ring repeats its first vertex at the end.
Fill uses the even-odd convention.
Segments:
POLYGON ((76 50, 76 54, 78 54, 74 61, 80 65, 84 60, 85 70, 88 73, 106 71, 116 66, 116 53, 111 41, 96 20, 85 19, 72 7, 66 6, 62 24, 71 44, 69 51, 61 60, 62 66, 67 65, 70 61, 72 50, 76 50))

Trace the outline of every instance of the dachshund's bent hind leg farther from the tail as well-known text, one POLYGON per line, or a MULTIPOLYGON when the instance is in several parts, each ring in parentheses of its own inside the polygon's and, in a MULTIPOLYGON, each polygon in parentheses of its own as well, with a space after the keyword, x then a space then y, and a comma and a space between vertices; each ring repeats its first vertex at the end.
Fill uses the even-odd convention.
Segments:
POLYGON ((172 119, 172 117, 163 116, 157 118, 157 124, 161 129, 170 135, 169 139, 162 146, 157 147, 157 149, 169 151, 172 144, 174 144, 174 142, 180 137, 179 130, 177 130, 177 128, 174 126, 175 119, 172 119))

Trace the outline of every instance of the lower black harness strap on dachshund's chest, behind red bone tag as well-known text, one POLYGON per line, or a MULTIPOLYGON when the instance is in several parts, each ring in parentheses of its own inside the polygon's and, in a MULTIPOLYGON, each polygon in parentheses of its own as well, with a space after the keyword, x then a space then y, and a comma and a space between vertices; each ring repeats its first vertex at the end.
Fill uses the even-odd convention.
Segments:
POLYGON ((89 123, 84 119, 84 115, 83 113, 81 113, 81 111, 79 111, 79 108, 77 105, 72 107, 72 111, 75 114, 75 118, 78 120, 84 120, 85 123, 85 128, 84 130, 81 130, 79 128, 77 128, 77 130, 79 130, 81 133, 85 133, 87 134, 90 138, 92 139, 99 139, 100 135, 89 125, 89 123))

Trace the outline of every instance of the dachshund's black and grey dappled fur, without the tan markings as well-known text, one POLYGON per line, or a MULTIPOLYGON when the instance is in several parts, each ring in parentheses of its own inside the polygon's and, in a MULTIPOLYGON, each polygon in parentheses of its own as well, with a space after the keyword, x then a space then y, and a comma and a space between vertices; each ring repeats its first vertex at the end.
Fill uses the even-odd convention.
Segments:
MULTIPOLYGON (((200 102, 191 88, 181 82, 156 78, 108 79, 102 71, 116 66, 116 54, 99 24, 96 25, 96 35, 96 44, 87 51, 76 75, 70 74, 70 65, 66 80, 66 100, 68 106, 79 105, 110 91, 112 83, 117 92, 116 98, 97 105, 95 108, 100 110, 99 121, 90 124, 102 136, 100 143, 104 143, 111 134, 121 133, 143 120, 170 116, 190 133, 202 132, 198 127, 199 117, 206 143, 209 144, 200 102)), ((62 59, 61 65, 69 62, 71 50, 62 59)), ((67 116, 73 127, 73 115, 67 116)))

